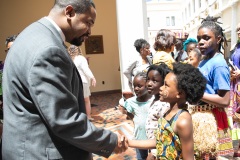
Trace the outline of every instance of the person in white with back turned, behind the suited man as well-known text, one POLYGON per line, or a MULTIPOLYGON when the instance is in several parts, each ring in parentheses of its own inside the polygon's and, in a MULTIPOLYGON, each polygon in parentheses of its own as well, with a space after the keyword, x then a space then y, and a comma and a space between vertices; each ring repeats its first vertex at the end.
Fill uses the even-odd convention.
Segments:
POLYGON ((82 52, 79 47, 70 45, 68 48, 68 52, 72 57, 72 60, 76 65, 77 70, 82 78, 86 113, 87 113, 88 119, 90 121, 93 121, 94 119, 91 117, 90 85, 95 87, 96 79, 89 68, 87 59, 82 55, 82 52))

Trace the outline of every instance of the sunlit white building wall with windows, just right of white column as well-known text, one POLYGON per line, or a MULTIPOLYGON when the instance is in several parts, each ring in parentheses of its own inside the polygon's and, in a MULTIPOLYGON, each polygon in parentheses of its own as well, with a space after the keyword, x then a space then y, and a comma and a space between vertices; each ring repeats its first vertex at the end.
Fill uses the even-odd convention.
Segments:
POLYGON ((160 29, 170 29, 183 36, 182 7, 184 0, 147 0, 148 40, 151 45, 160 29))

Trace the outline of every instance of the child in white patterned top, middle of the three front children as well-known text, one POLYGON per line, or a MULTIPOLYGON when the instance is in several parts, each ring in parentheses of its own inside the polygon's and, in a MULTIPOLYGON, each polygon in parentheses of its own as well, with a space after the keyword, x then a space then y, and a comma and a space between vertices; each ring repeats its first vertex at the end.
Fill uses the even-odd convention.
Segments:
MULTIPOLYGON (((154 139, 155 130, 158 127, 158 118, 169 109, 169 104, 159 101, 159 89, 164 83, 164 78, 171 70, 165 63, 159 65, 153 64, 149 67, 147 72, 147 89, 148 93, 154 95, 154 100, 148 109, 148 116, 146 121, 146 133, 148 139, 154 139)), ((156 149, 151 150, 149 157, 156 157, 156 149)))

